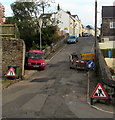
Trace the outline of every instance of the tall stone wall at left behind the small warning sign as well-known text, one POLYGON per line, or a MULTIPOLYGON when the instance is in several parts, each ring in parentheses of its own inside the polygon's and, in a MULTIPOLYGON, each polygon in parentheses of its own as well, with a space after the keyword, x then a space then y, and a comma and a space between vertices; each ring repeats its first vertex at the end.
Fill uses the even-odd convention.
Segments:
POLYGON ((2 76, 8 70, 8 65, 19 65, 20 77, 24 75, 25 43, 21 39, 2 38, 2 76))

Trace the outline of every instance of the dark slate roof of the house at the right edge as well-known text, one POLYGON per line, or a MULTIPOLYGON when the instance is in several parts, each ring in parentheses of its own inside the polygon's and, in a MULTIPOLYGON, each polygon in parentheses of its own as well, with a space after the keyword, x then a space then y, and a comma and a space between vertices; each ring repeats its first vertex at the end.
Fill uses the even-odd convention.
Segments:
POLYGON ((115 6, 102 6, 102 18, 115 18, 115 6))

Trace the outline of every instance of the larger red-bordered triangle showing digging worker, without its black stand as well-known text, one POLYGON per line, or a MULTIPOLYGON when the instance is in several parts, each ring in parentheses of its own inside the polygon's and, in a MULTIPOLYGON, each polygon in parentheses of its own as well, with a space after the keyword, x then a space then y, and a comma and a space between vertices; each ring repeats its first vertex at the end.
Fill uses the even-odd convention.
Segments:
POLYGON ((101 83, 98 83, 95 90, 93 91, 91 98, 102 98, 102 99, 108 99, 108 94, 106 93, 104 87, 101 85, 101 83))

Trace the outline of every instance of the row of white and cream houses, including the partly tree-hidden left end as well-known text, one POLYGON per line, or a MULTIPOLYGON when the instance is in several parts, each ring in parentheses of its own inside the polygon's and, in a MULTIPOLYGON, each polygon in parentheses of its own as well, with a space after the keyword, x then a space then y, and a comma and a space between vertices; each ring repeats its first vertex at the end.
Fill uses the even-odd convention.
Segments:
POLYGON ((82 24, 77 15, 71 15, 69 11, 62 9, 55 13, 44 14, 41 16, 44 25, 57 25, 60 31, 69 35, 82 36, 82 24))

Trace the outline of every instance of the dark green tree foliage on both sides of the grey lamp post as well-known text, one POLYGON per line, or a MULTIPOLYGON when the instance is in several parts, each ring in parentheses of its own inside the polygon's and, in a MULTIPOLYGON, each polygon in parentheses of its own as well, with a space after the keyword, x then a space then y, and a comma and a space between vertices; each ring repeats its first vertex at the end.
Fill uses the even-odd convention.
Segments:
MULTIPOLYGON (((14 2, 11 4, 14 16, 13 19, 17 23, 20 31, 20 38, 25 41, 27 50, 31 48, 38 49, 39 46, 39 7, 43 8, 47 6, 48 3, 39 2, 14 2)), ((10 19, 11 20, 11 19, 10 19)), ((56 35, 56 27, 46 26, 42 28, 42 44, 43 46, 50 45, 54 40, 56 35)))

